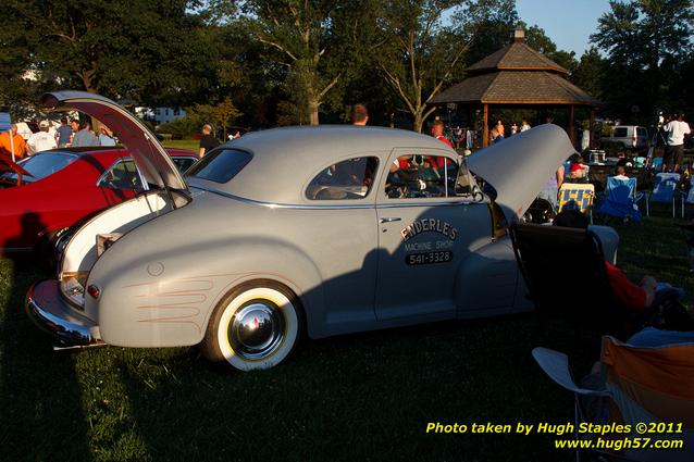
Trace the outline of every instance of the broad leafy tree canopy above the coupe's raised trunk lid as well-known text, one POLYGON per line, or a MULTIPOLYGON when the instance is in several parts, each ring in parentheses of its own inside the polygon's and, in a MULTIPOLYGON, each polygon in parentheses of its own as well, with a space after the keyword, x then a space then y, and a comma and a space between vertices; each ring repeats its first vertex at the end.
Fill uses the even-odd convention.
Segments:
POLYGON ((52 73, 54 87, 140 100, 182 93, 196 84, 202 50, 194 0, 7 0, 25 41, 26 68, 52 73))

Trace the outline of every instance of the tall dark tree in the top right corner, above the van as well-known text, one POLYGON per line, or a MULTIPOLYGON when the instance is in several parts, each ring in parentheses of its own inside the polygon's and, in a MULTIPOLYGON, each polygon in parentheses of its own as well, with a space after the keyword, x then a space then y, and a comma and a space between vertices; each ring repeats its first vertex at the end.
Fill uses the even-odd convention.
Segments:
POLYGON ((691 0, 610 0, 591 36, 608 55, 610 111, 625 116, 639 105, 641 114, 652 115, 669 91, 662 64, 686 55, 693 33, 691 0))

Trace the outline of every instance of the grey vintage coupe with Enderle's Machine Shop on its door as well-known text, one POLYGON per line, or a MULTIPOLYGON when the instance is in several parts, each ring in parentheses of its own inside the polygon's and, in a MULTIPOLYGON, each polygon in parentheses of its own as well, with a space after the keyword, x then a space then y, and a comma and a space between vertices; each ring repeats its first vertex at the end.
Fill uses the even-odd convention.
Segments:
POLYGON ((574 152, 555 125, 467 162, 411 132, 294 127, 222 145, 184 179, 114 102, 75 91, 41 102, 116 130, 147 188, 61 244, 29 316, 61 347, 199 345, 239 370, 278 364, 303 332, 530 309, 505 228, 574 152))

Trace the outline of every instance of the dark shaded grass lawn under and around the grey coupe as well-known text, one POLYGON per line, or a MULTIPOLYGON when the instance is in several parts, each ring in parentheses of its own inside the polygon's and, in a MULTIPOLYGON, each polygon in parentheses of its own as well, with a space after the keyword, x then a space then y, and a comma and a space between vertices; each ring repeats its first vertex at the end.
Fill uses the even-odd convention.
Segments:
MULTIPOLYGON (((664 212, 665 213, 665 212, 664 212)), ((619 263, 692 295, 683 234, 659 215, 616 225, 619 263)), ((0 260, 0 459, 7 461, 566 461, 549 436, 426 435, 427 422, 566 423, 572 396, 529 348, 572 330, 532 315, 305 341, 285 364, 234 373, 195 348, 55 353, 23 312, 42 275, 0 260)), ((689 299, 687 299, 689 300, 689 299)), ((585 366, 597 354, 585 352, 585 366)))

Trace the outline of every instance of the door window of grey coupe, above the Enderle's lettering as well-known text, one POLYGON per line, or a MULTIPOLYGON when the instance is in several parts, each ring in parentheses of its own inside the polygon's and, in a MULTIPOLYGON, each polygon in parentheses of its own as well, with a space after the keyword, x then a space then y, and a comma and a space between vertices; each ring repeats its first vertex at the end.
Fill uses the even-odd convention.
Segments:
POLYGON ((447 198, 456 196, 457 184, 458 163, 451 159, 400 155, 389 168, 385 193, 391 199, 447 198))

